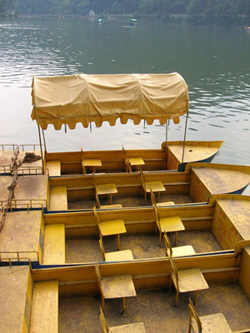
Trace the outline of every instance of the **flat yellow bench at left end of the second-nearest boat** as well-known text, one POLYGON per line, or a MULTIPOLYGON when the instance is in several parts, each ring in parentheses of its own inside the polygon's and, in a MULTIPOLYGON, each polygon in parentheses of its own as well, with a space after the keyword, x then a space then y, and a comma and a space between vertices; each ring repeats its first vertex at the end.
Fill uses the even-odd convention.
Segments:
POLYGON ((43 264, 65 264, 65 226, 49 224, 45 227, 43 264))

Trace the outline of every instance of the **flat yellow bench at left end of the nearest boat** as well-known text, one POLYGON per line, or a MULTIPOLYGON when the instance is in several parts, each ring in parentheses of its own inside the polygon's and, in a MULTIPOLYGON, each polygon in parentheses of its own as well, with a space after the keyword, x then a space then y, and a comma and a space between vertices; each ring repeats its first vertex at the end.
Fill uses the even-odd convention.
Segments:
POLYGON ((58 281, 35 282, 30 333, 58 332, 58 281))

